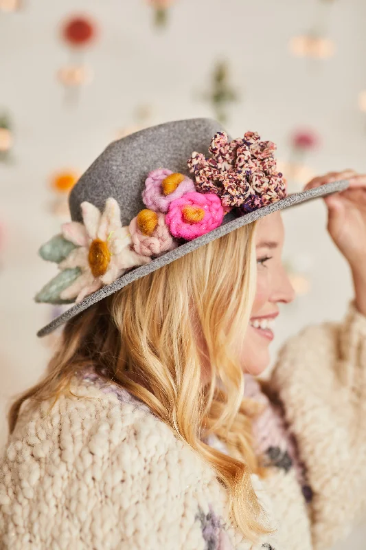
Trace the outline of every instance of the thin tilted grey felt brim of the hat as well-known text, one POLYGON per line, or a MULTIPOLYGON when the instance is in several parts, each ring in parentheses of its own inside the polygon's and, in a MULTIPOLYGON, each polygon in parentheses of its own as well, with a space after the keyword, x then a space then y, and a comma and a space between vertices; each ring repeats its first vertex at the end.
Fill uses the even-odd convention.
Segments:
POLYGON ((181 258, 185 254, 188 254, 188 252, 192 252, 192 250, 196 250, 196 248, 199 248, 200 246, 209 243, 209 241, 214 241, 220 236, 226 235, 233 230, 241 228, 243 225, 247 225, 252 221, 263 218, 264 216, 268 216, 268 214, 272 214, 272 212, 275 212, 276 210, 284 210, 284 208, 289 208, 290 206, 295 206, 305 201, 310 201, 312 199, 317 199, 318 197, 332 195, 335 192, 345 190, 348 185, 349 183, 347 180, 334 181, 330 184, 324 184, 313 189, 293 193, 275 203, 271 203, 268 206, 263 206, 262 208, 258 208, 258 210, 249 212, 249 214, 243 214, 242 216, 235 217, 234 219, 230 219, 229 215, 227 215, 225 216, 224 223, 222 223, 222 225, 220 225, 218 228, 204 235, 198 236, 196 239, 188 241, 187 243, 180 245, 174 250, 170 250, 170 252, 166 252, 165 254, 163 254, 163 256, 159 256, 158 258, 152 260, 146 265, 136 267, 130 272, 119 277, 116 281, 114 281, 114 283, 111 283, 111 285, 106 285, 99 289, 97 292, 93 292, 93 294, 90 294, 89 296, 84 298, 84 300, 82 300, 80 303, 73 305, 71 308, 67 309, 67 311, 64 311, 64 313, 62 313, 60 316, 54 318, 52 322, 49 322, 48 325, 38 331, 37 336, 39 338, 47 336, 47 334, 52 333, 55 329, 60 327, 60 325, 67 322, 67 320, 80 314, 85 309, 88 309, 88 307, 90 307, 91 305, 99 302, 103 298, 106 298, 106 296, 117 292, 117 290, 126 287, 126 285, 129 285, 133 281, 136 281, 137 279, 144 277, 149 273, 159 270, 159 267, 163 267, 163 265, 167 265, 168 263, 171 263, 174 260, 181 258))

